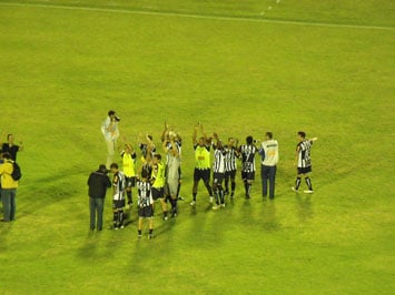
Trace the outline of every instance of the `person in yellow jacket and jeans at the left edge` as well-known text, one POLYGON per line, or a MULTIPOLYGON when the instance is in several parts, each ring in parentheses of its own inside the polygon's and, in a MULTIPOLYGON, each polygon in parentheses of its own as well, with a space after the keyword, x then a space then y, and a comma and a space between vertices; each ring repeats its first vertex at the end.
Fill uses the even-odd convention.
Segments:
POLYGON ((13 172, 13 161, 10 153, 2 153, 1 159, 3 161, 0 164, 2 221, 11 222, 16 220, 18 181, 13 180, 11 175, 13 172))

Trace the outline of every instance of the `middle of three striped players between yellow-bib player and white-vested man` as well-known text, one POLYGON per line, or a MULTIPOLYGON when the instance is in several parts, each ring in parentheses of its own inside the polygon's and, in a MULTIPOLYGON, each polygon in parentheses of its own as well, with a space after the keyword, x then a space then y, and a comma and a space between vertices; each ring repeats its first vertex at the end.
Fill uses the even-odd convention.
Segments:
POLYGON ((238 140, 233 138, 228 139, 228 144, 225 145, 225 194, 229 194, 229 179, 230 179, 230 197, 233 199, 236 190, 236 170, 237 163, 236 159, 240 157, 239 152, 237 151, 238 140))

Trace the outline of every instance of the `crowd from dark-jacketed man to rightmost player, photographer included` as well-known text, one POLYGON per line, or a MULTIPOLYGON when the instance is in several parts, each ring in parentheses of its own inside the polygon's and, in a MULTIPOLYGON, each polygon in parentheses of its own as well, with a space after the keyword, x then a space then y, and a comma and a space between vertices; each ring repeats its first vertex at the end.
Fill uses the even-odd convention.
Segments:
MULTIPOLYGON (((100 165, 99 170, 91 173, 88 180, 90 196, 90 230, 102 230, 103 199, 107 187, 112 191, 112 228, 124 228, 125 208, 132 206, 132 187, 137 189, 138 206, 138 236, 142 236, 142 221, 149 221, 148 237, 154 236, 154 211, 155 203, 160 203, 164 221, 168 217, 177 217, 178 201, 181 186, 181 146, 182 139, 166 123, 161 133, 161 150, 166 155, 162 161, 161 154, 157 151, 151 135, 144 140, 139 138, 140 165, 137 165, 137 153, 132 145, 122 138, 124 149, 120 151, 122 167, 113 161, 117 153, 117 140, 119 138, 120 118, 115 111, 109 111, 108 116, 101 125, 101 132, 107 143, 107 165, 100 165), (112 182, 107 172, 113 174, 112 182), (127 203, 126 203, 127 202, 127 203), (96 222, 96 215, 98 216, 96 222)), ((302 177, 305 177, 308 190, 305 193, 313 193, 312 181, 308 173, 312 172, 310 148, 316 140, 307 140, 304 132, 298 133, 297 145, 297 170, 298 174, 293 191, 298 192, 302 177)), ((265 140, 257 148, 257 141, 247 136, 246 142, 239 145, 237 139, 229 138, 227 142, 220 140, 217 133, 207 135, 201 123, 196 124, 192 132, 192 144, 195 150, 195 170, 191 206, 197 204, 197 193, 200 180, 204 182, 208 193, 208 201, 213 210, 225 207, 225 196, 230 200, 235 196, 237 161, 241 162, 241 179, 245 189, 245 197, 250 199, 251 185, 255 180, 256 154, 261 157, 260 175, 263 181, 261 194, 264 197, 275 197, 276 166, 278 163, 278 142, 273 139, 271 132, 266 132, 265 140), (211 165, 213 151, 213 165, 211 165), (213 174, 213 182, 210 182, 213 174), (230 184, 230 185, 229 185, 230 184), (230 186, 230 187, 229 187, 230 186)))

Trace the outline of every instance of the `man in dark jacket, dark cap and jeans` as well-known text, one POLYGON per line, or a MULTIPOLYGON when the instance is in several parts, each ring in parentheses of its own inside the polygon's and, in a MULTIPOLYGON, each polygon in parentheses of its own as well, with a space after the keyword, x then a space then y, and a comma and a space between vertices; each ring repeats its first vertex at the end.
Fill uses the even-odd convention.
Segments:
POLYGON ((111 187, 111 181, 107 175, 106 165, 101 164, 99 170, 90 173, 89 185, 89 210, 90 210, 90 231, 102 230, 102 212, 105 207, 105 196, 108 187, 111 187), (96 213, 98 215, 96 227, 96 213))

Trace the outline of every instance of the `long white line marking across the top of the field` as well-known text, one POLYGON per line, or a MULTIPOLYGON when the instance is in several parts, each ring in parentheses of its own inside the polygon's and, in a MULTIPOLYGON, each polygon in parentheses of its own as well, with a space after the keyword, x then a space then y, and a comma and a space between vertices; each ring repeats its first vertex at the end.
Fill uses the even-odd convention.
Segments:
POLYGON ((81 11, 96 11, 96 12, 110 12, 122 14, 140 14, 140 16, 159 16, 159 17, 177 17, 190 19, 206 19, 206 20, 226 20, 226 21, 243 21, 243 22, 260 22, 260 23, 278 23, 278 24, 294 24, 304 27, 324 27, 324 28, 348 28, 362 30, 386 30, 395 31, 394 27, 381 26, 359 26, 359 24, 342 24, 328 22, 308 22, 308 21, 288 21, 288 20, 268 20, 268 19, 253 19, 253 18, 238 18, 238 17, 217 17, 204 16, 192 13, 176 13, 176 12, 156 12, 156 11, 138 11, 127 9, 112 9, 112 8, 92 8, 92 7, 76 7, 76 6, 56 6, 56 4, 34 4, 34 3, 10 3, 2 2, 0 6, 8 7, 29 7, 29 8, 46 8, 46 9, 65 9, 65 10, 81 10, 81 11))

